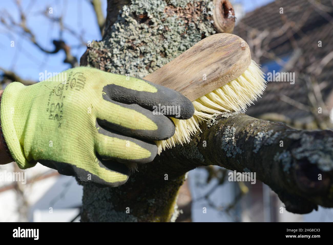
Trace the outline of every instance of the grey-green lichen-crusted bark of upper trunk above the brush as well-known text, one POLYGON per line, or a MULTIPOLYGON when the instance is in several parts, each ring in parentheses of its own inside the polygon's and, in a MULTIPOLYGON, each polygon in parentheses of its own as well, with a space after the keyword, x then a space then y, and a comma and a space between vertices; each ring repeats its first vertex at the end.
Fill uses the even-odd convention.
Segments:
POLYGON ((143 78, 214 34, 212 9, 207 0, 134 0, 81 63, 143 78))

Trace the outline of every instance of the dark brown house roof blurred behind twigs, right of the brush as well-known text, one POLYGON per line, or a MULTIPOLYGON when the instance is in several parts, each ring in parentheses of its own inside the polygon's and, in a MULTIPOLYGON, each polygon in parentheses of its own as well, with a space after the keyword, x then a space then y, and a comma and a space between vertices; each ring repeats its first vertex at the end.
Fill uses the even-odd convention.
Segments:
MULTIPOLYGON (((331 110, 333 107, 333 59, 326 57, 333 50, 331 1, 322 0, 320 3, 314 0, 275 1, 247 13, 234 29, 234 34, 249 44, 251 52, 258 50, 253 38, 258 37, 260 33, 268 34, 262 43, 267 47, 266 50, 273 51, 270 53, 274 53, 276 57, 287 54, 295 59, 292 66, 285 71, 296 72, 296 79, 295 84, 268 82, 262 98, 248 108, 247 114, 259 117, 266 113, 277 113, 290 119, 303 121, 311 118, 310 112, 300 109, 302 105, 295 103, 296 101, 308 105, 307 87, 300 72, 309 74, 309 69, 317 65, 323 67, 322 64, 329 60, 322 71, 315 74, 315 78, 321 88, 327 109, 331 110), (280 8, 283 8, 283 14, 280 14, 280 8), (322 42, 322 47, 318 47, 318 41, 322 42), (324 57, 326 59, 323 61, 324 57), (295 106, 290 105, 290 102, 295 106)), ((253 57, 256 57, 255 53, 252 53, 253 57)), ((273 59, 274 57, 263 53, 258 62, 264 65, 273 59)))

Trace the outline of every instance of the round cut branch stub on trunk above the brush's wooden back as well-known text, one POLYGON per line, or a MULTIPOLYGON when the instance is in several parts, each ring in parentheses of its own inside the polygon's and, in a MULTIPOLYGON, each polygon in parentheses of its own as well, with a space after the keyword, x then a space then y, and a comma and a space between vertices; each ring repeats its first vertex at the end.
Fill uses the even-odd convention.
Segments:
POLYGON ((228 0, 214 0, 214 27, 218 33, 231 33, 235 26, 235 12, 228 0))

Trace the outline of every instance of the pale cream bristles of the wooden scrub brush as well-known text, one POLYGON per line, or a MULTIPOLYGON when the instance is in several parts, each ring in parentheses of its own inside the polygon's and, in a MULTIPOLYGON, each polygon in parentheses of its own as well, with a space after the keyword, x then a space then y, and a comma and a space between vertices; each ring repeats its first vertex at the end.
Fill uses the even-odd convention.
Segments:
POLYGON ((261 97, 265 88, 264 73, 252 60, 241 76, 193 101, 193 117, 187 120, 171 118, 176 127, 175 133, 167 140, 156 141, 158 154, 176 144, 189 143, 191 136, 201 131, 200 123, 209 122, 214 114, 245 111, 247 106, 261 97))

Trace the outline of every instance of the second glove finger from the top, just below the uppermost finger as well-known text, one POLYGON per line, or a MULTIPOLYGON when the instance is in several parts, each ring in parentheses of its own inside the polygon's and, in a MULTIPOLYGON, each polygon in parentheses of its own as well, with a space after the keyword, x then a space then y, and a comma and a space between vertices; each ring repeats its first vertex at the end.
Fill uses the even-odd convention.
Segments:
POLYGON ((164 140, 175 132, 173 122, 166 116, 154 115, 139 105, 122 104, 109 98, 99 105, 97 118, 99 125, 107 129, 142 139, 164 140))

